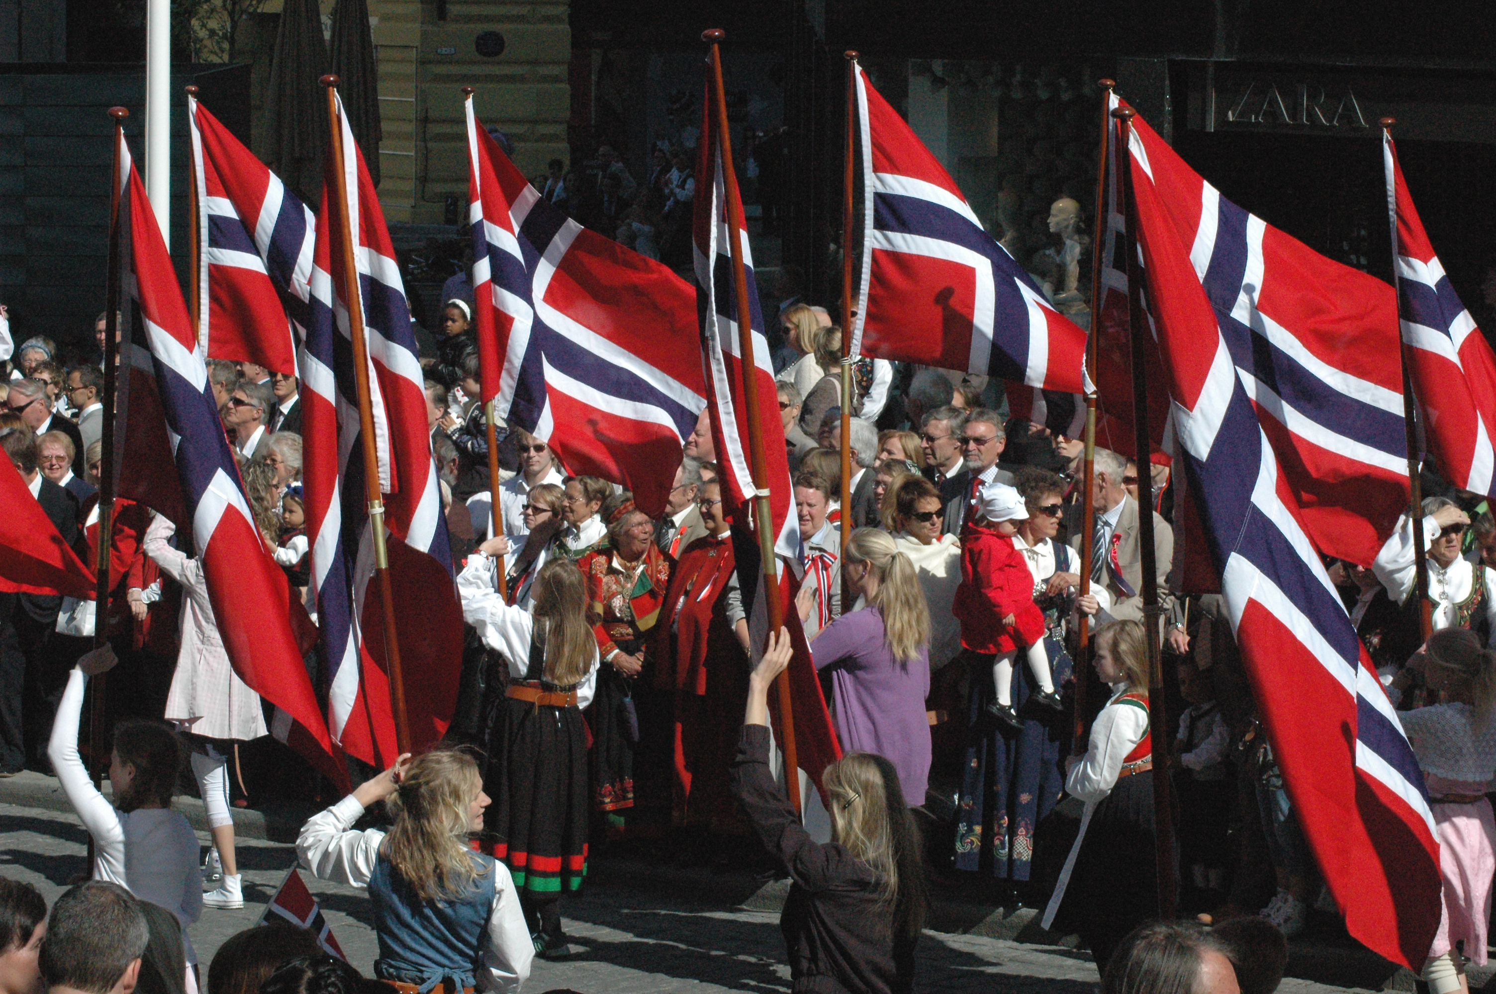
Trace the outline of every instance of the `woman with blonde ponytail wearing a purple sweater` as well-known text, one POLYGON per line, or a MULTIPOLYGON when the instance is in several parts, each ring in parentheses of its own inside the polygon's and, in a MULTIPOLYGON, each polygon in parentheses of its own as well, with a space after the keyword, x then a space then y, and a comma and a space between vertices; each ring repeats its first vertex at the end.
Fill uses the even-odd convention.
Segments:
MULTIPOLYGON (((815 634, 811 656, 832 674, 832 716, 844 752, 887 756, 904 797, 925 803, 931 770, 931 611, 914 564, 877 528, 851 534, 847 587, 866 607, 815 634)), ((811 604, 800 602, 802 617, 811 604)))

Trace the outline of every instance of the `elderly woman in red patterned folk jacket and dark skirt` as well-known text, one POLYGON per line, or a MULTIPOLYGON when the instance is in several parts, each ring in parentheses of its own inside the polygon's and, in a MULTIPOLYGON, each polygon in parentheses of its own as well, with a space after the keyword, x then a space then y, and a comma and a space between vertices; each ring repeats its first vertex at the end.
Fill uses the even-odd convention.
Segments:
POLYGON ((606 544, 576 565, 586 577, 588 620, 603 661, 589 711, 594 804, 609 818, 609 828, 621 831, 621 812, 636 807, 636 770, 642 780, 637 807, 663 806, 669 813, 673 731, 669 709, 661 707, 664 695, 654 689, 646 646, 670 586, 670 562, 654 544, 654 522, 634 507, 628 490, 607 498, 603 520, 606 544))

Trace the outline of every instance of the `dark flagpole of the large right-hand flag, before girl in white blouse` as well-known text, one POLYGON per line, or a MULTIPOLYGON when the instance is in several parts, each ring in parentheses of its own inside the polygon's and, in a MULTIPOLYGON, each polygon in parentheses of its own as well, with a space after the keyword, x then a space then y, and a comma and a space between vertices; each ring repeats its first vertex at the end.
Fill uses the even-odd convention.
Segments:
MULTIPOLYGON (((1132 135, 1132 108, 1118 108, 1112 117, 1121 123, 1118 158, 1126 217, 1126 297, 1128 338, 1132 342, 1132 436, 1137 447, 1137 523, 1143 558, 1143 626, 1147 629, 1147 725, 1153 743, 1153 859, 1158 868, 1158 916, 1164 921, 1177 912, 1174 880, 1174 818, 1168 783, 1168 714, 1164 710, 1164 668, 1158 652, 1159 620, 1158 561, 1153 552, 1153 474, 1147 472, 1150 439, 1147 433, 1147 321, 1143 315, 1143 268, 1137 257, 1137 200, 1132 196, 1132 164, 1128 142, 1132 135)), ((1085 546, 1086 543, 1082 543, 1085 546)))

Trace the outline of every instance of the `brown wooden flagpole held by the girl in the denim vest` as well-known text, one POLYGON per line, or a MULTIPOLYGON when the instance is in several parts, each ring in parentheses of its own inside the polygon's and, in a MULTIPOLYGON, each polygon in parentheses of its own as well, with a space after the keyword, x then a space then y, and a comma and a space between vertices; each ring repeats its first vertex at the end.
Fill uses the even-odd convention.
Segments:
MULTIPOLYGON (((349 179, 343 170, 343 121, 338 118, 338 78, 322 76, 328 90, 328 124, 332 132, 332 190, 337 217, 343 224, 343 285, 349 303, 349 333, 353 339, 353 377, 359 393, 359 441, 364 448, 364 489, 368 496, 370 531, 374 537, 374 572, 378 577, 380 607, 384 611, 384 665, 389 670, 390 710, 395 711, 395 741, 399 752, 410 749, 410 723, 405 717, 405 680, 399 670, 399 632, 395 625, 395 590, 389 578, 389 552, 384 546, 384 501, 378 489, 378 450, 374 442, 374 408, 370 401, 370 350, 364 327, 364 291, 359 265, 353 254, 353 220, 349 217, 349 179)), ((365 683, 367 686, 367 683, 365 683)), ((393 756, 389 758, 393 761, 393 756)))

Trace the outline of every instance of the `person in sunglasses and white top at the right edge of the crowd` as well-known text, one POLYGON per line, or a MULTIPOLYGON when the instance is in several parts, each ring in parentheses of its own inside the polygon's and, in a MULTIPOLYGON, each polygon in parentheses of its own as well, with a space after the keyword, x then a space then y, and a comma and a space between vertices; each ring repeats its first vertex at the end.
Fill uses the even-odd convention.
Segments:
MULTIPOLYGON (((1423 501, 1423 540, 1429 558, 1429 601, 1433 605, 1433 631, 1444 628, 1469 628, 1481 644, 1490 644, 1492 632, 1496 631, 1496 572, 1484 564, 1472 564, 1460 556, 1460 544, 1465 529, 1471 526, 1471 516, 1444 496, 1424 498, 1423 501)), ((1412 523, 1408 516, 1397 522, 1397 531, 1387 540, 1382 550, 1372 562, 1372 572, 1387 587, 1387 595, 1399 605, 1409 608, 1405 613, 1406 625, 1417 625, 1417 614, 1411 613, 1411 598, 1417 586, 1414 569, 1412 523)))

